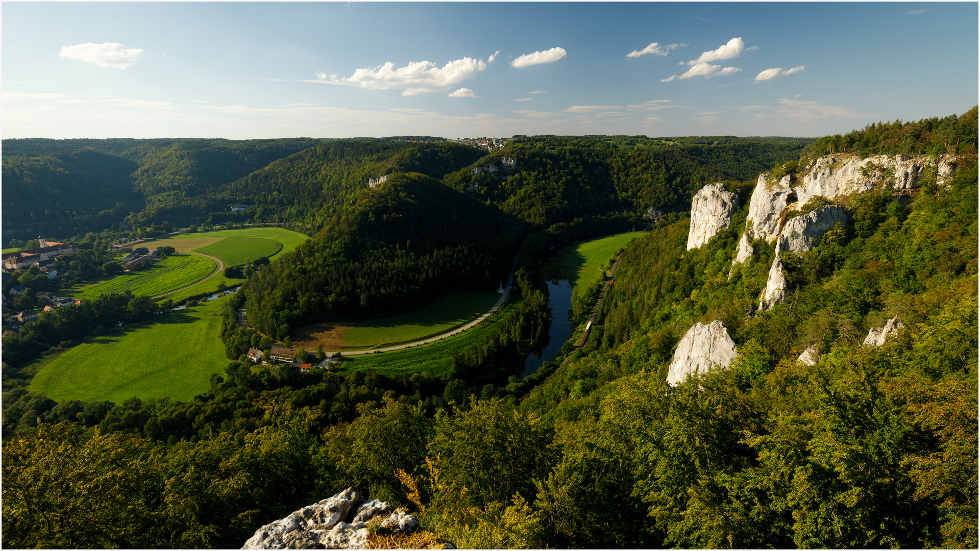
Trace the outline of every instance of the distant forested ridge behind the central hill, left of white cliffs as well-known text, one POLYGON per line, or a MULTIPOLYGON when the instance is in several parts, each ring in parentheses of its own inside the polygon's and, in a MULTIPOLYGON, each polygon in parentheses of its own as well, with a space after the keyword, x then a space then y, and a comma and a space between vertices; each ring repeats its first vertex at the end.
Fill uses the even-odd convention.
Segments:
POLYGON ((735 136, 520 137, 443 181, 547 227, 612 211, 686 210, 704 184, 755 178, 774 165, 798 159, 812 141, 735 136), (505 163, 512 159, 513 167, 505 163))

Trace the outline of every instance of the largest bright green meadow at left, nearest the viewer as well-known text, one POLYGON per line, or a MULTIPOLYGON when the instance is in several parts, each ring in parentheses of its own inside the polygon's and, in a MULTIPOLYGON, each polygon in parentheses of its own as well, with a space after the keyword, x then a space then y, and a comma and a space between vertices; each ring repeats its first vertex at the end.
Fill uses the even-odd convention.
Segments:
POLYGON ((133 396, 189 400, 210 387, 211 374, 228 360, 218 338, 227 297, 114 332, 85 339, 45 359, 30 390, 63 400, 111 400, 133 396))

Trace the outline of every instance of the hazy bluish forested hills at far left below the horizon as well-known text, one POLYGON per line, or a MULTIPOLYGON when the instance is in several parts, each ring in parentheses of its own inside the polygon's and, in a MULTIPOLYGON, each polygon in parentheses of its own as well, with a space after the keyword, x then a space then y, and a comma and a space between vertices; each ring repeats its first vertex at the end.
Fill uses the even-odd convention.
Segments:
POLYGON ((197 196, 316 143, 311 138, 6 139, 4 237, 102 231, 147 204, 152 210, 197 196))

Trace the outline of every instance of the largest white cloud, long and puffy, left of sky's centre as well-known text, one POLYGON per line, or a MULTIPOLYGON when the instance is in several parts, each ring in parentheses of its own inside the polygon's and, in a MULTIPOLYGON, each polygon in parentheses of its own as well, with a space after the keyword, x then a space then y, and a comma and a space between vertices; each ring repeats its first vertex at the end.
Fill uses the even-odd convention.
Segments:
MULTIPOLYGON (((369 89, 402 90, 403 96, 412 96, 419 92, 437 92, 445 90, 459 82, 472 78, 486 70, 483 60, 463 58, 447 63, 442 69, 432 62, 418 61, 405 67, 395 69, 395 64, 388 62, 376 69, 359 69, 354 75, 319 81, 332 84, 351 84, 369 89)), ((305 80, 309 82, 310 80, 305 80)), ((316 82, 317 80, 313 80, 316 82)))

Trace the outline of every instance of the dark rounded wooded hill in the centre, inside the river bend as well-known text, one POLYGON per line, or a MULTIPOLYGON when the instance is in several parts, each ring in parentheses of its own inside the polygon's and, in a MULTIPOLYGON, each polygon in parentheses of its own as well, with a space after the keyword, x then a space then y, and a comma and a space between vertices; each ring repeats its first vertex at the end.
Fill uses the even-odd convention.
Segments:
POLYGON ((248 281, 249 322, 281 339, 324 318, 494 290, 529 229, 429 176, 393 175, 248 281))

